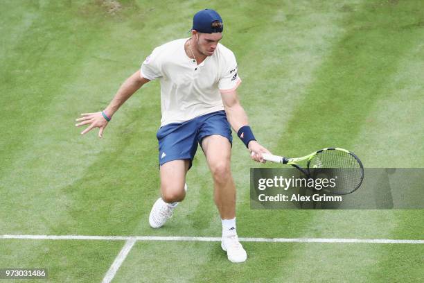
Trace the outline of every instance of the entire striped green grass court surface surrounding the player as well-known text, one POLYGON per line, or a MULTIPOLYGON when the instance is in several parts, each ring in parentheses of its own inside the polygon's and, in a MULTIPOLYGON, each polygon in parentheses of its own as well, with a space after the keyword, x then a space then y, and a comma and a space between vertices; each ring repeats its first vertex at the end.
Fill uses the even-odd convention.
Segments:
MULTIPOLYGON (((201 151, 188 195, 160 230, 159 82, 105 130, 74 121, 105 108, 159 44, 188 37, 216 8, 236 53, 242 105, 280 155, 351 149, 366 167, 424 166, 421 1, 2 1, 0 234, 220 235, 201 151)), ((424 239, 423 210, 251 210, 245 147, 233 146, 242 237, 424 239)), ((47 267, 50 282, 100 282, 123 242, 0 240, 0 268, 47 267)), ((138 242, 114 282, 418 282, 422 245, 245 243, 233 265, 218 243, 138 242), (172 255, 171 257, 168 257, 172 255), (164 259, 165 257, 165 259, 164 259)), ((30 282, 30 281, 25 281, 30 282)))

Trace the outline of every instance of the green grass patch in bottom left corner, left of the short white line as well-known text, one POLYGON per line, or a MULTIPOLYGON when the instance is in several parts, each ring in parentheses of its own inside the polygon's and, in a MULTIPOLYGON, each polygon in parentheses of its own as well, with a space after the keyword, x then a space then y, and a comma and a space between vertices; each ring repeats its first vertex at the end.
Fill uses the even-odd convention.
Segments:
POLYGON ((123 246, 117 241, 1 240, 1 268, 45 268, 46 280, 0 282, 101 282, 123 246))

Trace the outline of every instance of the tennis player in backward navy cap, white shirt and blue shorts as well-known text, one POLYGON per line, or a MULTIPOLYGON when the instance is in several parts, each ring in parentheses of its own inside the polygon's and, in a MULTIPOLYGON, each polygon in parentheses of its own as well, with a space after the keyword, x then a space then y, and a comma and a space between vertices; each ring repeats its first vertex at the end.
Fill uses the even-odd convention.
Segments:
POLYGON ((220 44, 224 26, 218 12, 200 10, 193 17, 190 38, 154 49, 118 89, 102 112, 82 114, 76 126, 88 125, 82 135, 108 122, 137 89, 150 80, 161 83, 159 164, 161 198, 154 203, 149 223, 160 228, 186 195, 186 173, 200 144, 214 182, 214 198, 222 219, 222 249, 232 262, 247 258, 236 232, 236 187, 230 170, 231 127, 249 148, 251 158, 263 162, 269 153, 256 141, 236 92, 241 83, 233 52, 220 44), (231 126, 230 126, 231 125, 231 126))

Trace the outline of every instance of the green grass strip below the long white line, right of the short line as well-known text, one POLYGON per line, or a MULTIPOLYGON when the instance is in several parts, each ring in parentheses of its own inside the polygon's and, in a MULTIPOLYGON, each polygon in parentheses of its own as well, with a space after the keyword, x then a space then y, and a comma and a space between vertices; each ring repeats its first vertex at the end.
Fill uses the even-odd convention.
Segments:
POLYGON ((137 243, 116 282, 419 282, 423 275, 421 245, 418 250, 407 245, 328 243, 245 247, 249 260, 234 265, 216 243, 137 243), (412 256, 408 264, 405 253, 412 256))

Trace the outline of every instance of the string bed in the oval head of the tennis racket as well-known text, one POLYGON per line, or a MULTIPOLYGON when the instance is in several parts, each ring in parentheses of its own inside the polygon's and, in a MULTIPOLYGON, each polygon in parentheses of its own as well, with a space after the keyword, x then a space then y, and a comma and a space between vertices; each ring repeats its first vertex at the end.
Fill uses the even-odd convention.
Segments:
POLYGON ((326 178, 336 179, 335 187, 327 189, 334 194, 348 194, 355 191, 363 178, 362 165, 353 155, 345 151, 321 151, 310 160, 308 167, 313 175, 325 175, 326 178))

